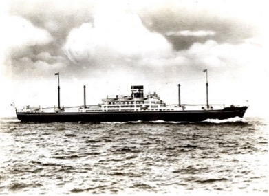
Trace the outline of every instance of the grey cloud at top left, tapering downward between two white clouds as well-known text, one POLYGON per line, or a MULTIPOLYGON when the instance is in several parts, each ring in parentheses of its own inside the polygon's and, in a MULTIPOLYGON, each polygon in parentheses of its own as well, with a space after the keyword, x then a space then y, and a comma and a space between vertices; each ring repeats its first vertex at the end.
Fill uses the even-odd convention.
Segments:
POLYGON ((50 32, 54 41, 62 44, 69 30, 91 21, 94 1, 8 1, 8 12, 31 21, 35 26, 50 32))

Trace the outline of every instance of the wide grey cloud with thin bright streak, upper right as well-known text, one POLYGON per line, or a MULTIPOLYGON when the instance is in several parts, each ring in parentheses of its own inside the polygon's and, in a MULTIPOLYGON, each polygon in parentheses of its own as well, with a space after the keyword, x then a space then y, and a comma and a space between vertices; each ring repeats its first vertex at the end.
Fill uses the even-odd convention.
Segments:
POLYGON ((166 36, 175 50, 185 50, 195 42, 206 42, 208 36, 211 36, 210 39, 214 37, 218 43, 234 44, 255 36, 263 15, 250 4, 242 6, 234 1, 158 1, 140 5, 138 14, 149 30, 166 36), (189 36, 188 39, 186 36, 189 36))

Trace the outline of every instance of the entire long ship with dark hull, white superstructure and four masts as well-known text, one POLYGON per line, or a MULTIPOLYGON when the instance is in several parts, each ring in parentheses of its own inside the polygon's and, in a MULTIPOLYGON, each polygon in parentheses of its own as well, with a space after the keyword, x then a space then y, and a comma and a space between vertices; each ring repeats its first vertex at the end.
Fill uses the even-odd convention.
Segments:
POLYGON ((58 76, 58 107, 44 108, 27 105, 16 109, 21 122, 202 122, 206 119, 224 120, 243 118, 248 106, 211 105, 208 102, 208 79, 206 72, 206 104, 189 105, 180 101, 180 84, 178 85, 178 103, 166 105, 158 94, 144 95, 143 85, 131 86, 127 96, 107 96, 98 105, 86 105, 86 87, 84 86, 84 105, 78 107, 61 107, 60 78, 58 76))

